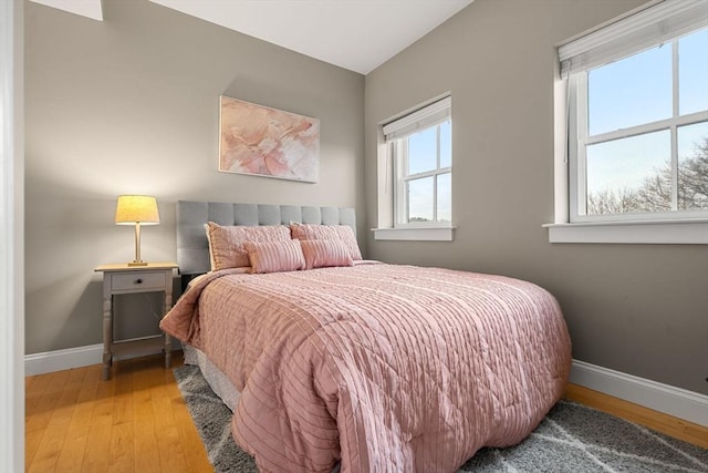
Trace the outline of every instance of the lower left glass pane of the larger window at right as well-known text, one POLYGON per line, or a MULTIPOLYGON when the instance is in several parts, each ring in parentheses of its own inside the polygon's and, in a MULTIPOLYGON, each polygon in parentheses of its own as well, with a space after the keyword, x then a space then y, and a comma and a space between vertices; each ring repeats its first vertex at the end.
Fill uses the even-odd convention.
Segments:
POLYGON ((671 209, 668 130, 586 148, 587 215, 671 209))

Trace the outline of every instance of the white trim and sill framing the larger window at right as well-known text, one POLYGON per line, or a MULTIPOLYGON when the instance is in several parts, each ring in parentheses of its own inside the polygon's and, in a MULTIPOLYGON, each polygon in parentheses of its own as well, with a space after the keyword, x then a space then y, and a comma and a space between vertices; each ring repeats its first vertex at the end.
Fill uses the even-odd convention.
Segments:
MULTIPOLYGON (((604 52, 596 52, 598 48, 608 44, 605 34, 617 38, 627 37, 629 42, 638 45, 650 45, 650 38, 666 40, 669 37, 690 31, 700 25, 708 24, 708 10, 700 1, 696 0, 666 0, 659 3, 641 7, 629 12, 624 18, 611 21, 602 30, 596 30, 580 35, 559 48, 561 62, 556 64, 556 81, 554 84, 554 223, 545 224, 549 229, 550 243, 597 243, 597 244, 708 244, 708 218, 680 218, 681 214, 673 214, 674 218, 641 220, 641 215, 603 222, 573 222, 571 223, 571 206, 576 209, 576 196, 571 195, 571 185, 568 156, 568 126, 570 96, 568 73, 576 68, 587 68, 589 64, 598 65, 597 56, 604 52), (673 28, 677 32, 666 33, 666 18, 676 12, 671 19, 673 28), (662 21, 657 21, 659 18, 662 21), (658 35, 658 29, 663 37, 658 35), (650 31, 649 31, 650 30, 650 31), (649 38, 647 40, 647 38, 649 38), (648 42, 647 42, 648 41, 648 42), (594 51, 595 49, 595 51, 594 51), (577 54, 579 51, 585 51, 577 54), (577 60, 571 58, 575 55, 577 60), (561 73, 561 71, 563 71, 561 73), (637 219, 639 218, 639 219, 637 219)), ((612 59, 624 54, 621 48, 614 52, 612 59)), ((573 124, 574 125, 574 124, 573 124)))

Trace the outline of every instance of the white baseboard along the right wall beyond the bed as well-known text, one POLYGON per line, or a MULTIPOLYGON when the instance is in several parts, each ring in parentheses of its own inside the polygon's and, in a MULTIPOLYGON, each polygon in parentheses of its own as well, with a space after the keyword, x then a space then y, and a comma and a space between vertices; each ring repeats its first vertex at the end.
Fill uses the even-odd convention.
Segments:
POLYGON ((699 425, 708 426, 708 395, 573 360, 570 381, 699 425))

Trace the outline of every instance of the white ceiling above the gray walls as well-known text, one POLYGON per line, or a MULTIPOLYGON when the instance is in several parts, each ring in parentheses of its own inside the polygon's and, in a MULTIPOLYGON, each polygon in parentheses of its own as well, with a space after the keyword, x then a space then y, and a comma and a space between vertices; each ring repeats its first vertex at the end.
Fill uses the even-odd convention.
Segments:
MULTIPOLYGON (((101 0, 33 0, 102 20, 101 0)), ((150 0, 362 74, 473 0, 150 0)))

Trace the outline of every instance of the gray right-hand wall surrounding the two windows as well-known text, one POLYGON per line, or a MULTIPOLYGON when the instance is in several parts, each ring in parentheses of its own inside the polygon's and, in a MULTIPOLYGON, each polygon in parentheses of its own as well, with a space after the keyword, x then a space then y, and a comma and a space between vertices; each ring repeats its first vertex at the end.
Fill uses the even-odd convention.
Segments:
POLYGON ((476 0, 366 76, 366 210, 377 223, 382 120, 452 92, 452 243, 374 241, 368 256, 529 279, 563 307, 573 356, 708 393, 705 246, 548 241, 554 44, 642 0, 476 0))

